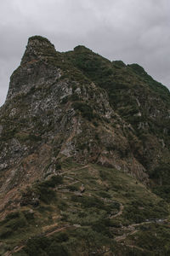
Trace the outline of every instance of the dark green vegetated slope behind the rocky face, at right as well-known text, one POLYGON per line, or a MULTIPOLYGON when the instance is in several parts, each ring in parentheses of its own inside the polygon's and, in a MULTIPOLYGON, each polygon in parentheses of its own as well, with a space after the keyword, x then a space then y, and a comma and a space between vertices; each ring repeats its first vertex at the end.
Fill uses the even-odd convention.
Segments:
POLYGON ((139 142, 131 148, 147 171, 153 172, 161 162, 167 163, 170 148, 167 88, 139 65, 108 61, 83 46, 76 47, 67 56, 88 79, 107 91, 111 107, 133 126, 139 142))

